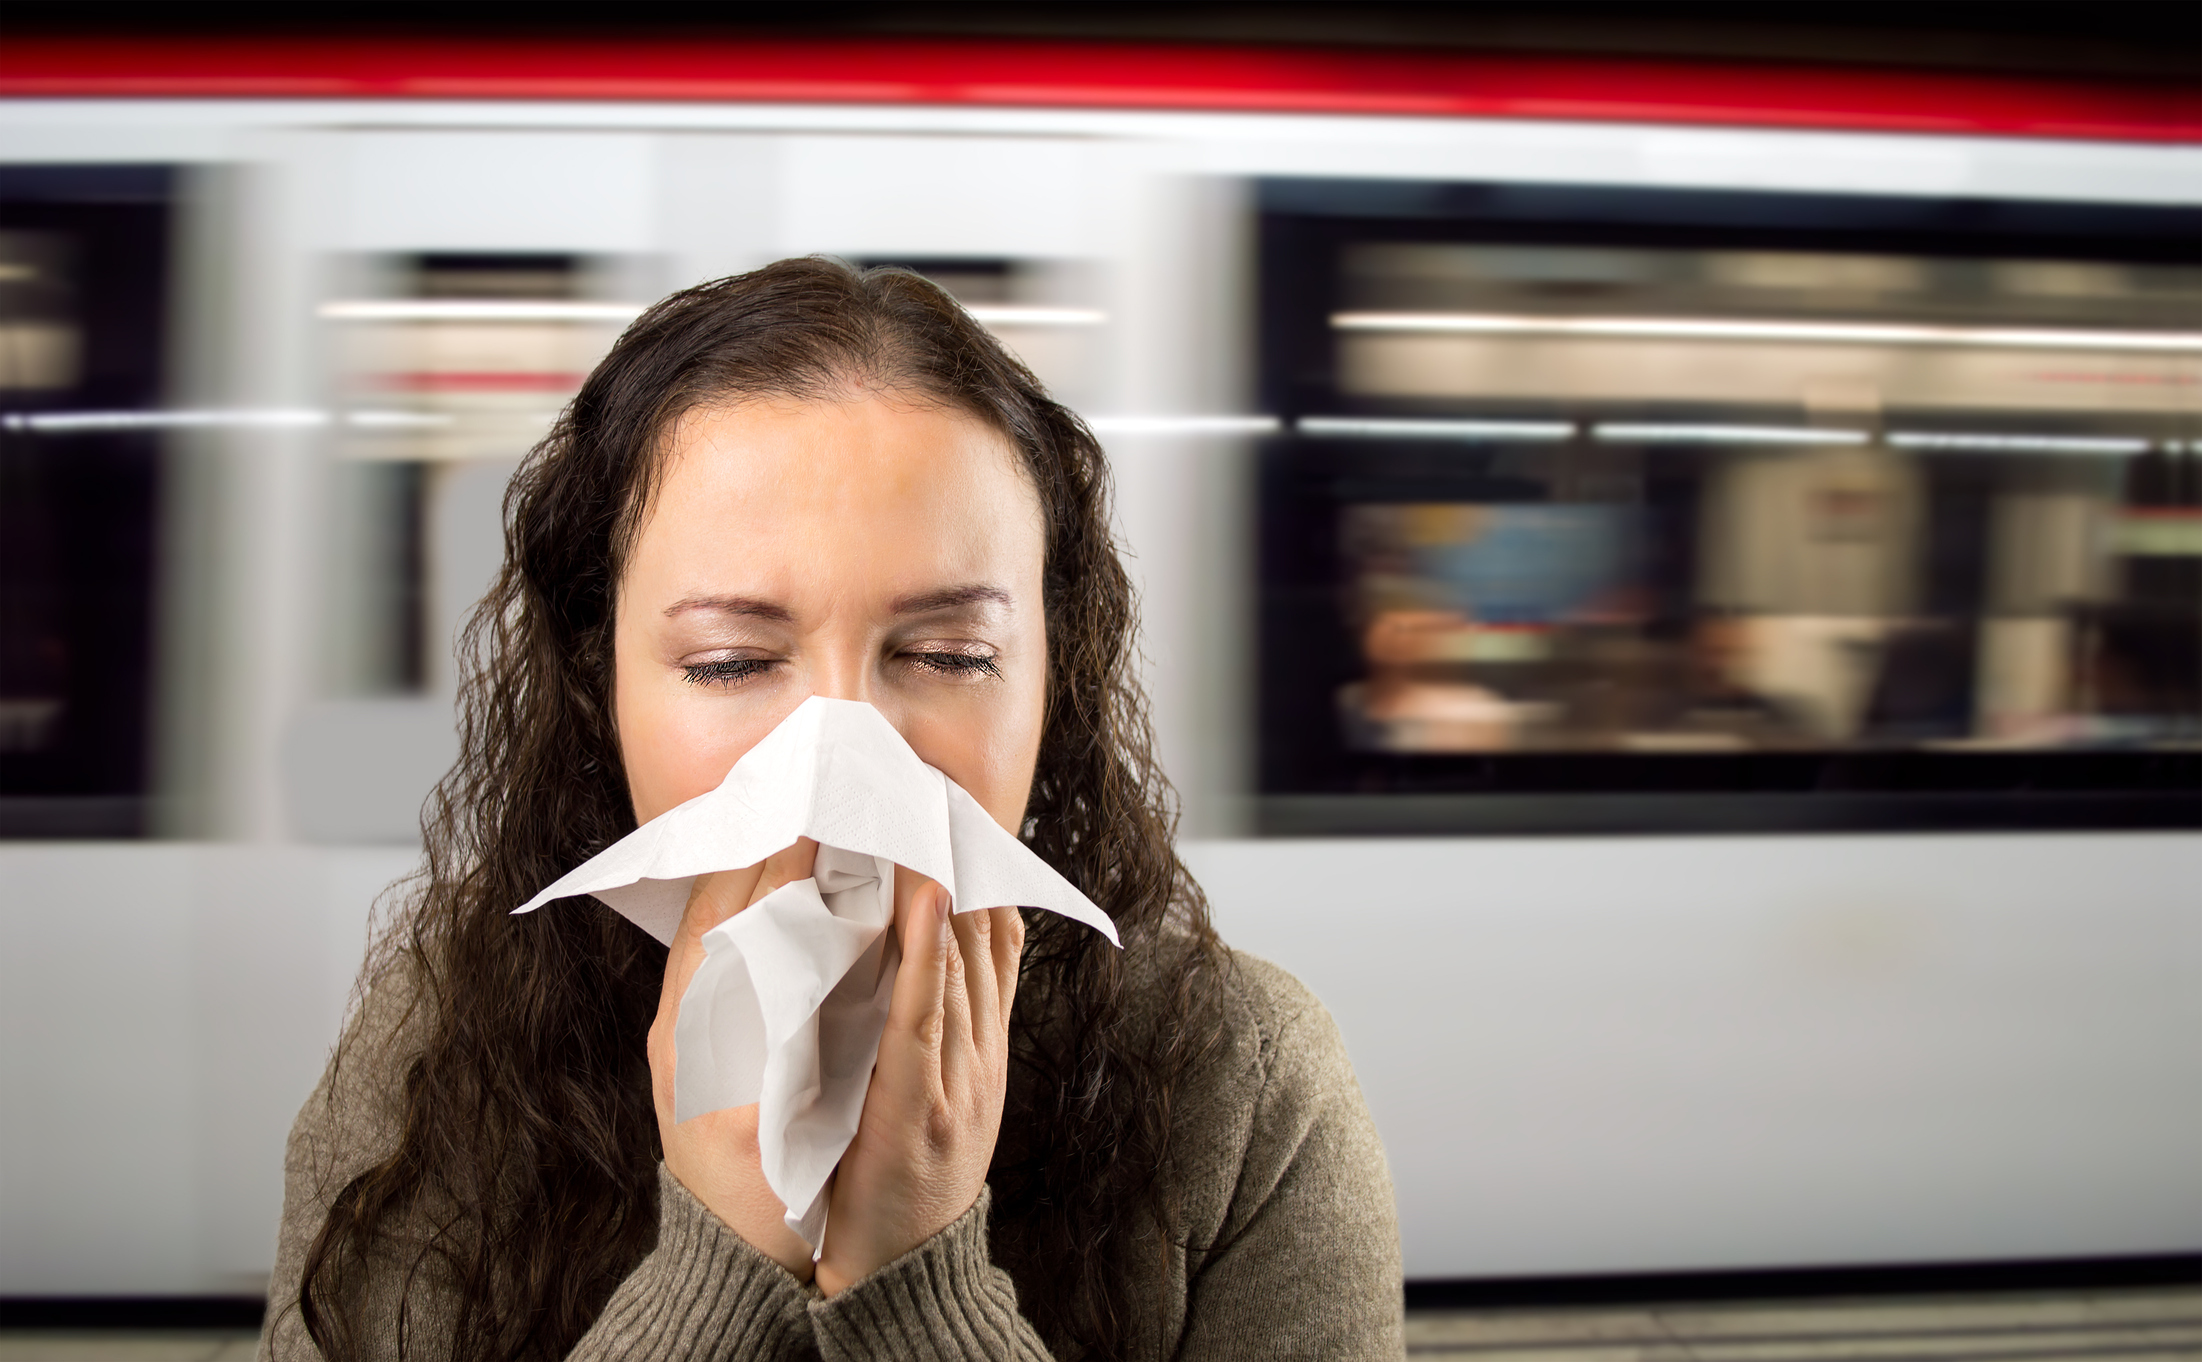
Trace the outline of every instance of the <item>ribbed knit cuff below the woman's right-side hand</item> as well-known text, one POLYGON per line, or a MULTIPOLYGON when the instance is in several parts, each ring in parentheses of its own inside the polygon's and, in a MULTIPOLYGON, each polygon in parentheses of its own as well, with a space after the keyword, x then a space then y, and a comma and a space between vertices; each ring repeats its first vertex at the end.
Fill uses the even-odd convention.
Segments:
POLYGON ((1046 1362, 1048 1349, 1017 1314, 1017 1287, 986 1252, 991 1201, 982 1190, 947 1230, 841 1294, 813 1300, 810 1327, 826 1362, 1046 1362))

